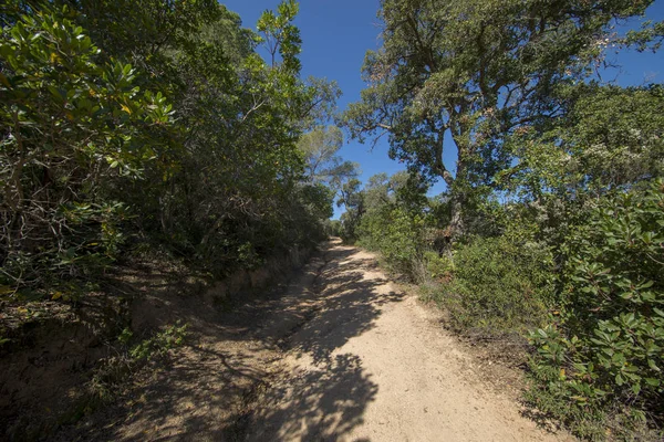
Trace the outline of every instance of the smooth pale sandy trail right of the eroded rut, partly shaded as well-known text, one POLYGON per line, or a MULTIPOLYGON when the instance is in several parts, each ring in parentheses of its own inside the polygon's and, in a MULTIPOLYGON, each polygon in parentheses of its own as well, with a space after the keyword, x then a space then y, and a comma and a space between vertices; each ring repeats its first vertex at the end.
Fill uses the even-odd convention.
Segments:
POLYGON ((303 301, 312 314, 282 339, 282 376, 245 440, 569 440, 483 388, 435 314, 400 293, 373 255, 333 242, 324 261, 303 301))

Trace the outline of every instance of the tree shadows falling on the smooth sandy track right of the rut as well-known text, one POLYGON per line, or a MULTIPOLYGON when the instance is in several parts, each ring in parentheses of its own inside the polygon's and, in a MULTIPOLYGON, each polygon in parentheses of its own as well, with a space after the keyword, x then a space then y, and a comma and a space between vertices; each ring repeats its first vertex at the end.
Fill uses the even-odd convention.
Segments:
POLYGON ((249 441, 335 441, 363 422, 378 391, 362 360, 342 347, 375 326, 404 295, 391 290, 373 259, 334 244, 317 281, 315 315, 283 347, 291 373, 276 382, 247 422, 249 441))

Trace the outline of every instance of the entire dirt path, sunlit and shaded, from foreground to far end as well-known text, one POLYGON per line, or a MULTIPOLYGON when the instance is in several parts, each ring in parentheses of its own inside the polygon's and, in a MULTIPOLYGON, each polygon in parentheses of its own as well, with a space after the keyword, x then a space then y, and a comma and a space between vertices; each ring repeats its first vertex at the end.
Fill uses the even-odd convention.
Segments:
POLYGON ((232 313, 206 298, 148 298, 191 323, 188 345, 60 440, 572 440, 526 419, 439 313, 356 248, 331 242, 232 313))

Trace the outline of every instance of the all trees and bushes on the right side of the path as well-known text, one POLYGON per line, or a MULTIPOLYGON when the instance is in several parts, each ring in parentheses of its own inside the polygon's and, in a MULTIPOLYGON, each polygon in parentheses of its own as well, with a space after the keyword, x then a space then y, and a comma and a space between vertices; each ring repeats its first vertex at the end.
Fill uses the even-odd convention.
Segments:
POLYGON ((663 435, 664 88, 596 75, 658 49, 661 23, 614 28, 651 3, 383 0, 343 117, 409 177, 349 181, 342 236, 457 330, 529 337, 528 401, 592 440, 663 435))

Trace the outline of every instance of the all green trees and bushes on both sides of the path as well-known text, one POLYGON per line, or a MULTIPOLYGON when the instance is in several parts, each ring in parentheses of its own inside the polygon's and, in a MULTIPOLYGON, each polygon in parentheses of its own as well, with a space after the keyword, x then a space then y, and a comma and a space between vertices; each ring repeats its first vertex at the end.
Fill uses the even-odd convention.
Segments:
POLYGON ((652 2, 382 0, 339 123, 408 170, 363 186, 340 91, 301 78, 294 0, 258 33, 215 0, 6 1, 1 301, 75 302, 155 250, 224 277, 333 232, 458 332, 528 337, 546 417, 661 440, 664 86, 598 75, 610 48, 658 50, 662 23, 615 32, 652 2))

